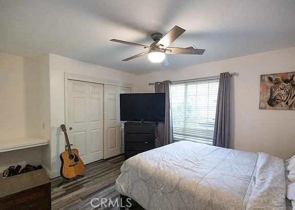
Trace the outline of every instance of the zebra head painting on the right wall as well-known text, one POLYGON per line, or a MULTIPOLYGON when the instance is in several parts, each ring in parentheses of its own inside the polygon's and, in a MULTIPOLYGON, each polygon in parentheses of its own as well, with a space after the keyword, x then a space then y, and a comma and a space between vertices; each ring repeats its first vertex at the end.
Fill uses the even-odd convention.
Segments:
POLYGON ((295 72, 260 75, 259 109, 295 110, 295 72))

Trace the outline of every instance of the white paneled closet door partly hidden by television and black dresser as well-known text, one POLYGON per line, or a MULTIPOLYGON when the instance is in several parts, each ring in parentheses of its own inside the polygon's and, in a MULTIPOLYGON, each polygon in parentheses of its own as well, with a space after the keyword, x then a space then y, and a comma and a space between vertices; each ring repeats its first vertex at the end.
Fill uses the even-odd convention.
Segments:
POLYGON ((120 93, 130 93, 130 88, 104 85, 104 159, 124 153, 120 93))

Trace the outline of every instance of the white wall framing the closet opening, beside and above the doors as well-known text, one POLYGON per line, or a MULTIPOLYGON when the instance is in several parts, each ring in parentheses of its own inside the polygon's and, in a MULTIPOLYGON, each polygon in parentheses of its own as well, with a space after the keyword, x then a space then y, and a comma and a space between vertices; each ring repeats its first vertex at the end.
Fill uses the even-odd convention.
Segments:
MULTIPOLYGON (((60 124, 65 123, 65 86, 64 73, 76 73, 133 83, 136 75, 125 73, 86 62, 50 54, 50 110, 51 110, 51 173, 50 177, 59 176, 59 154, 65 150, 64 134, 60 124)), ((70 139, 71 140, 71 139, 70 139)))

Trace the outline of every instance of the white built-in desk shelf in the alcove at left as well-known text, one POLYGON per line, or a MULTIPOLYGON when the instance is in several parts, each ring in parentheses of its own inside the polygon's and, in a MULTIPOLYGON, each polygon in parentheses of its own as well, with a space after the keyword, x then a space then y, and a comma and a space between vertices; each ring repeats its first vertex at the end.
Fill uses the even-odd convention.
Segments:
POLYGON ((41 136, 0 140, 0 153, 46 144, 49 144, 49 140, 41 136))

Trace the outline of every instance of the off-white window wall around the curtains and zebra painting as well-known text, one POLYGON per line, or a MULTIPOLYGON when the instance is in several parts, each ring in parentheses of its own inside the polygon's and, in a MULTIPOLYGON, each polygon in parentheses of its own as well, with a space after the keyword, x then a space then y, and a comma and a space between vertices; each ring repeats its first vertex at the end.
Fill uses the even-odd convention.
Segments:
POLYGON ((258 106, 260 75, 295 72, 295 48, 140 75, 133 91, 154 92, 149 82, 213 76, 225 71, 239 73, 231 87, 231 148, 281 158, 294 155, 295 111, 259 110, 258 106))

